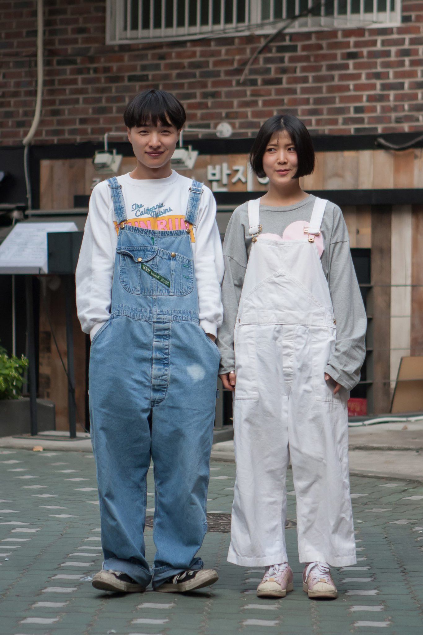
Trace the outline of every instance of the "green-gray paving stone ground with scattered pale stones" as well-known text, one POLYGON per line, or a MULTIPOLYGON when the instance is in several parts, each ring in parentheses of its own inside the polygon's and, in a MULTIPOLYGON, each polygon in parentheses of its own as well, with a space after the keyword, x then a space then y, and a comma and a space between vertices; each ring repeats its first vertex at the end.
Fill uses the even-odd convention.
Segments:
MULTIPOLYGON (((231 509, 235 466, 212 462, 208 511, 231 509)), ((148 514, 153 513, 152 471, 148 514)), ((292 473, 288 518, 296 518, 292 473)), ((206 566, 219 571, 211 589, 189 595, 113 596, 96 591, 101 547, 93 456, 82 452, 0 450, 1 635, 344 635, 423 632, 423 486, 352 477, 358 563, 334 572, 336 601, 302 591, 296 530, 287 530, 294 592, 256 597, 259 568, 226 562, 229 533, 210 532, 206 566)), ((263 518, 263 523, 266 519, 263 518)), ((146 530, 152 559, 152 530, 146 530)))

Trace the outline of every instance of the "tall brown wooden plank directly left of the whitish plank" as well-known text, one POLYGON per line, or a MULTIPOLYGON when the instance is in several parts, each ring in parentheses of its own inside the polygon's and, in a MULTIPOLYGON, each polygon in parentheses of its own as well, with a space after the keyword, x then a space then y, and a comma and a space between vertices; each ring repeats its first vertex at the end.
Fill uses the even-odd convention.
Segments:
POLYGON ((372 290, 370 307, 373 319, 370 340, 373 344, 373 368, 368 377, 373 385, 368 391, 370 413, 389 412, 391 395, 389 384, 389 342, 391 339, 391 208, 372 207, 372 290))

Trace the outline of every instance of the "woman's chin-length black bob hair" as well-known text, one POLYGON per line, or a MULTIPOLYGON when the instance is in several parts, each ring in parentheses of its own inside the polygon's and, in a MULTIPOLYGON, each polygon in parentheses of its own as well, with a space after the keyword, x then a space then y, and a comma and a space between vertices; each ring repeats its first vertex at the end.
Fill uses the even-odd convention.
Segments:
POLYGON ((294 115, 274 115, 264 122, 252 144, 250 163, 257 177, 266 176, 263 170, 263 154, 273 135, 285 130, 295 146, 298 168, 293 178, 305 177, 315 169, 315 150, 310 133, 303 122, 294 115))

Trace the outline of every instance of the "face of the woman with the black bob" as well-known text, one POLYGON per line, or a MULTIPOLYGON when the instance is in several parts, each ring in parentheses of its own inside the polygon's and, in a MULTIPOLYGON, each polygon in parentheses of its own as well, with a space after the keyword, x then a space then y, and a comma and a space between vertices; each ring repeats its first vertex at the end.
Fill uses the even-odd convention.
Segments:
POLYGON ((298 168, 297 151, 286 130, 275 133, 263 154, 263 170, 275 185, 290 184, 298 168))

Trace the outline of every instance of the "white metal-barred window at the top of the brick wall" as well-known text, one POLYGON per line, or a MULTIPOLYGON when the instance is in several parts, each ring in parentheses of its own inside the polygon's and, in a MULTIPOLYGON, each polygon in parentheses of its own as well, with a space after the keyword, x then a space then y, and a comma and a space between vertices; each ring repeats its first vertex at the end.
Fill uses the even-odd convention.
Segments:
MULTIPOLYGON (((315 0, 107 0, 107 43, 271 32, 294 11, 298 15, 313 4, 315 0)), ((323 0, 287 30, 371 27, 400 20, 401 0, 323 0)))

